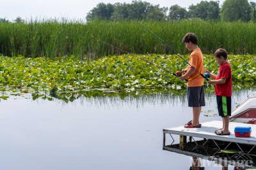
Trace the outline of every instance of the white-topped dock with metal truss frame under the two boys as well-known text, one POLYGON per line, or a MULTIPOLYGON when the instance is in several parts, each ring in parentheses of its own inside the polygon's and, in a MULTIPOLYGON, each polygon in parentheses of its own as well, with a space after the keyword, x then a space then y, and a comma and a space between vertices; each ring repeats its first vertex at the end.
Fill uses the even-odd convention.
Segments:
POLYGON ((230 135, 216 135, 214 131, 220 128, 222 128, 222 121, 205 122, 202 123, 201 128, 184 128, 184 125, 164 128, 163 150, 176 153, 194 153, 201 157, 207 155, 209 158, 223 155, 230 160, 243 159, 255 162, 256 125, 230 122, 230 135), (236 137, 234 134, 235 127, 251 127, 251 137, 236 137), (175 139, 179 141, 177 142, 175 139))

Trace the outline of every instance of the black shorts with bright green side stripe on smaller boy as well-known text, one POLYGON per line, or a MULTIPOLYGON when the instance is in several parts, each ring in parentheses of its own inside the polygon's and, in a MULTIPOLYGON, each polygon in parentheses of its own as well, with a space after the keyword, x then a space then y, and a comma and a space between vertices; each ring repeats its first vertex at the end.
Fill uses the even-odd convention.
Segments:
POLYGON ((231 97, 217 97, 218 111, 221 118, 231 116, 231 97))

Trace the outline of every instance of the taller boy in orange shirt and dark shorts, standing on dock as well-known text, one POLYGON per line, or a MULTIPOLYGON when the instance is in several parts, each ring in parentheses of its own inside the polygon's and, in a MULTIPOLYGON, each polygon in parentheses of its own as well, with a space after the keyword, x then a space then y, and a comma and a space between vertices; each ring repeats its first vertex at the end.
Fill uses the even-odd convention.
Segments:
POLYGON ((185 70, 182 70, 181 80, 188 80, 188 106, 193 107, 193 120, 184 125, 185 128, 200 128, 199 123, 200 112, 202 106, 205 106, 204 98, 204 77, 198 72, 204 74, 204 56, 198 47, 198 38, 194 33, 187 33, 182 42, 185 44, 186 49, 192 51, 189 56, 189 64, 185 70), (196 71, 197 70, 197 71, 196 71))

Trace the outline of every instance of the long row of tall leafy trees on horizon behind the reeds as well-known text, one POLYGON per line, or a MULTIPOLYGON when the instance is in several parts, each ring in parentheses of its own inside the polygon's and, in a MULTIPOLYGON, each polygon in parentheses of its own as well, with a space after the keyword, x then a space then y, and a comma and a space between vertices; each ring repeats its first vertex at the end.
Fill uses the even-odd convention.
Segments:
POLYGON ((256 21, 256 3, 248 0, 201 1, 182 8, 178 4, 160 7, 146 1, 132 3, 99 3, 87 13, 86 20, 182 20, 199 18, 203 20, 256 21))

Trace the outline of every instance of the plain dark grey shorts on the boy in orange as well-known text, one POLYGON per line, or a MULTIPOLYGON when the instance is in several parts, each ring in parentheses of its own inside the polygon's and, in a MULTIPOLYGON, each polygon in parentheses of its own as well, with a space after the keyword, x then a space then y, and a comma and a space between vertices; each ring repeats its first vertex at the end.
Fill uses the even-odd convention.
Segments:
POLYGON ((189 107, 205 106, 204 86, 188 87, 187 90, 189 107))

